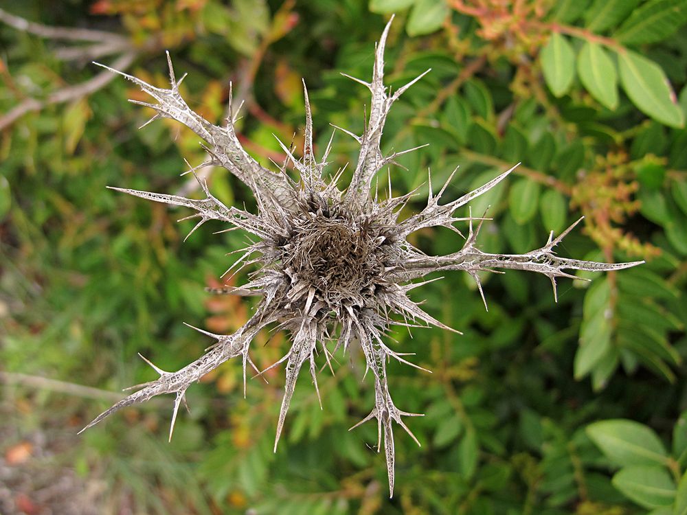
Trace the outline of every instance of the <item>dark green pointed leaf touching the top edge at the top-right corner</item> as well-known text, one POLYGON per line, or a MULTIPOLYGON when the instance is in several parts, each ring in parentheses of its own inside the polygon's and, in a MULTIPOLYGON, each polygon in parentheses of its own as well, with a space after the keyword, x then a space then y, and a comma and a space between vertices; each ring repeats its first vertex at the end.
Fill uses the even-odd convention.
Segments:
POLYGON ((632 13, 613 38, 622 45, 656 43, 671 36, 686 22, 684 0, 650 0, 632 13))

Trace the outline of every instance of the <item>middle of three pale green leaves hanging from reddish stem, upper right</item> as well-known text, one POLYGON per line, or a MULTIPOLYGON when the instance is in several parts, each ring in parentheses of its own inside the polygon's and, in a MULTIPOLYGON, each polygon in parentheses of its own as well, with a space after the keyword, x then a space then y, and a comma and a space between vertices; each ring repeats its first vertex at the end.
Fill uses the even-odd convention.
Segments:
POLYGON ((616 65, 601 45, 585 43, 577 58, 577 71, 582 84, 596 100, 611 110, 618 107, 616 65))

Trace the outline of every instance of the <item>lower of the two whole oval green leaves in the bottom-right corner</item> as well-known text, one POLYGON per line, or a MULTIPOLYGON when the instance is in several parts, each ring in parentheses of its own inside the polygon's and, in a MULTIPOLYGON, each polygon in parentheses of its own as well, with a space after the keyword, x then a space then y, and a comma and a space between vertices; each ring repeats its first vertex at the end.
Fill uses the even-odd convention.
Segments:
POLYGON ((631 466, 613 476, 613 486, 645 508, 669 506, 675 499, 675 484, 663 467, 631 466))

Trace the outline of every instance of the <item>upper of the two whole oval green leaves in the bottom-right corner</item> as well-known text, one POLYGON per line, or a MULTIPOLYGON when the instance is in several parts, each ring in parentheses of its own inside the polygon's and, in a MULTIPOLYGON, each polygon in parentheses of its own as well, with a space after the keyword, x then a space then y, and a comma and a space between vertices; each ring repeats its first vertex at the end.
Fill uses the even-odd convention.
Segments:
POLYGON ((664 465, 668 460, 663 442, 639 422, 602 420, 589 424, 586 431, 602 453, 620 466, 664 465))

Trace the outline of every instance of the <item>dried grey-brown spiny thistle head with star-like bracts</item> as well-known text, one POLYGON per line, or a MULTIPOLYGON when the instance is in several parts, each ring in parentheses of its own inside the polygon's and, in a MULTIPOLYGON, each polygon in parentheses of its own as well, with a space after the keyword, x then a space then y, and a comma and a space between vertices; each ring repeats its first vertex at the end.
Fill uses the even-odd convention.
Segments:
MULTIPOLYGON (((179 371, 161 370, 144 358, 146 363, 157 371, 159 379, 133 387, 139 389, 95 417, 82 431, 118 409, 143 402, 161 393, 174 393, 176 399, 170 424, 171 439, 179 407, 182 402, 185 404, 186 389, 225 361, 238 357, 243 362, 244 395, 249 366, 256 373, 262 374, 280 363, 286 363, 286 385, 274 443, 276 451, 296 379, 306 361, 319 398, 315 354, 322 352, 331 368, 330 358, 339 347, 343 347, 343 352, 346 352, 350 345, 359 345, 365 356, 365 371, 372 371, 374 376, 375 401, 370 414, 352 428, 373 418, 377 420, 377 448, 378 451, 381 450, 383 437, 390 494, 393 494, 392 422, 400 425, 420 445, 402 419, 405 416, 420 415, 401 411, 394 404, 387 383, 386 363, 390 358, 394 358, 406 365, 421 367, 407 361, 403 357, 406 354, 390 349, 384 343, 383 336, 391 325, 436 325, 452 330, 431 317, 408 297, 409 290, 426 284, 414 281, 435 271, 464 271, 477 282, 486 307, 480 277, 477 275, 480 271, 510 268, 542 273, 551 279, 555 299, 556 277, 574 278, 574 275, 564 270, 611 271, 642 263, 640 261, 607 264, 559 258, 554 253, 554 247, 580 220, 557 238, 551 233, 543 247, 525 254, 491 254, 480 251, 475 241, 486 218, 458 218, 455 211, 506 179, 517 165, 476 190, 446 204, 440 204, 439 201, 455 170, 436 196, 432 193, 430 176, 427 206, 402 221, 398 219, 399 211, 412 197, 413 192, 393 197, 390 187, 388 198, 380 200, 376 194, 372 196, 370 190, 376 174, 385 166, 394 163, 394 159, 399 155, 417 150, 412 148, 384 156, 380 150, 380 141, 385 119, 392 104, 429 71, 425 71, 393 94, 384 86, 383 55, 390 24, 391 21, 385 27, 379 44, 376 45, 372 80, 365 82, 350 77, 370 89, 372 102, 362 135, 358 136, 337 127, 360 145, 359 159, 350 185, 345 190, 339 189, 338 185, 343 170, 339 170, 330 181, 323 179, 323 170, 327 165, 332 140, 330 139, 321 161, 317 161, 313 154, 313 122, 305 84, 306 126, 302 157, 297 159, 291 149, 280 142, 288 161, 300 175, 295 181, 286 174, 286 163, 279 167, 280 172, 275 173, 262 167, 243 150, 234 130, 236 115, 230 114, 227 125, 221 127, 207 122, 188 107, 179 94, 179 84, 183 77, 179 80, 175 78, 169 53, 167 58, 170 89, 153 87, 143 80, 111 69, 137 84, 157 101, 156 104, 131 101, 156 111, 155 116, 147 123, 162 117, 172 118, 188 126, 205 140, 210 159, 196 168, 189 165, 191 173, 195 174, 198 168, 206 165, 226 168, 251 189, 257 201, 258 212, 253 214, 238 207, 227 207, 212 196, 207 184, 201 179, 199 183, 205 193, 202 200, 122 188, 112 189, 151 201, 194 209, 197 212, 187 218, 198 218, 199 221, 188 236, 207 220, 221 220, 231 224, 232 228, 244 229, 257 236, 259 240, 243 249, 241 258, 224 275, 237 266, 243 268, 248 264, 259 264, 260 268, 250 275, 247 284, 227 290, 225 293, 261 295, 262 300, 249 321, 234 334, 213 334, 194 328, 211 336, 216 343, 203 356, 179 371), (478 225, 473 230, 475 220, 478 225), (464 221, 469 222, 468 236, 462 249, 455 253, 429 256, 407 241, 410 234, 425 227, 443 226, 460 233, 453 224, 464 221), (292 336, 292 343, 289 352, 279 361, 260 371, 251 361, 249 347, 258 331, 268 325, 277 325, 288 330, 292 336), (333 349, 328 347, 330 344, 333 345, 333 349)), ((233 113, 231 98, 229 102, 229 112, 233 113)))

